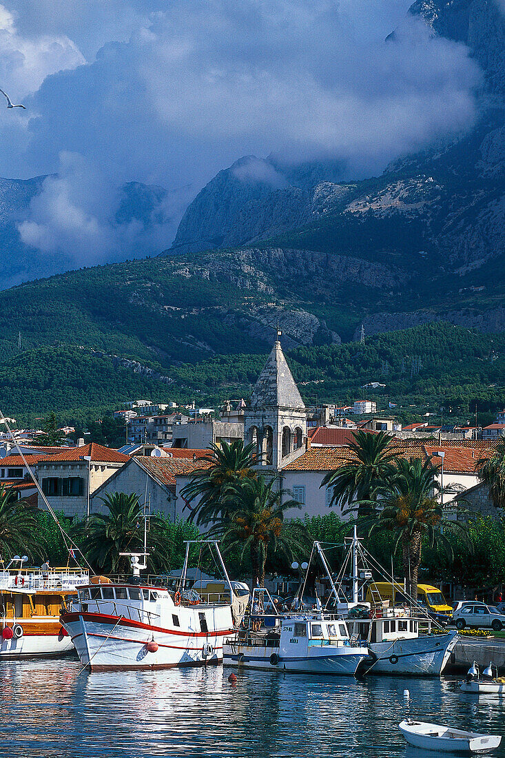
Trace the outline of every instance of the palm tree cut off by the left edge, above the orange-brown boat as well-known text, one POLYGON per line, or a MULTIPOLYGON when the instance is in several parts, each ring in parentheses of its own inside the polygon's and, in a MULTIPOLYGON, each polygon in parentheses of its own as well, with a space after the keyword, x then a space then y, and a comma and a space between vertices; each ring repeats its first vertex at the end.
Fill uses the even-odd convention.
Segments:
POLYGON ((0 556, 4 560, 16 553, 41 557, 45 546, 37 527, 33 509, 17 500, 14 490, 0 484, 0 556))

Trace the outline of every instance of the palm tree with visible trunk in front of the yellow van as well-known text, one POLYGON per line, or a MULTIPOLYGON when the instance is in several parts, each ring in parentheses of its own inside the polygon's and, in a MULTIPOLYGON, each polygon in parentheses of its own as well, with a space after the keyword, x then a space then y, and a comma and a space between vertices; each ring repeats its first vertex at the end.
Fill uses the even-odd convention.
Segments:
POLYGON ((431 459, 424 462, 420 458, 395 459, 389 480, 376 490, 379 500, 373 505, 379 506, 378 510, 361 522, 368 527, 369 536, 373 531, 394 532, 394 552, 401 545, 406 586, 414 600, 423 539, 428 540, 430 547, 440 544, 453 556, 445 534, 459 531, 472 549, 466 526, 444 518, 437 477, 438 466, 433 465, 431 459))

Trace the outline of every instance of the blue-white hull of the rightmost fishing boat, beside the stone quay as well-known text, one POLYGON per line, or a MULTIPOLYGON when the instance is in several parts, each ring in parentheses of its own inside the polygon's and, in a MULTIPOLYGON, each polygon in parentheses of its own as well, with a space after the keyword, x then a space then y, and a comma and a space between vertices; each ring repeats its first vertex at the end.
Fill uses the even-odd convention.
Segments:
POLYGON ((426 634, 369 644, 370 674, 440 676, 456 646, 458 634, 426 634))

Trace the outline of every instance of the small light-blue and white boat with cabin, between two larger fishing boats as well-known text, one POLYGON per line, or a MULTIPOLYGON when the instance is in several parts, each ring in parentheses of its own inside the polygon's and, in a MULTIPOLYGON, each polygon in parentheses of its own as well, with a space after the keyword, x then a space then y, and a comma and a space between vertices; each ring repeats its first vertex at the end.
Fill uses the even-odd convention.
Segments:
MULTIPOLYGON (((264 588, 253 590, 252 606, 260 593, 268 594, 264 588)), ((369 653, 366 647, 351 641, 346 623, 335 615, 254 615, 252 623, 261 623, 260 631, 252 631, 250 622, 249 617, 249 628, 224 642, 225 664, 243 669, 353 676, 369 653)))

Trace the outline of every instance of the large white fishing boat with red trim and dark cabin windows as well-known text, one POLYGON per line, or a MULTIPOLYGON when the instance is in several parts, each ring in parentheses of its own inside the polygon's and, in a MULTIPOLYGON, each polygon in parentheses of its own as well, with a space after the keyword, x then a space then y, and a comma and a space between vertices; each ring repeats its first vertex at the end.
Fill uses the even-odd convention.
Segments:
POLYGON ((218 543, 207 544, 215 547, 221 561, 229 587, 224 596, 213 594, 210 599, 187 590, 190 542, 177 590, 141 582, 140 568, 146 566, 140 564, 140 556, 146 553, 131 557, 132 581, 105 580, 80 589, 77 603, 62 613, 61 623, 83 666, 104 671, 220 663, 224 637, 234 634, 232 606, 240 615, 249 595, 240 599, 234 594, 218 543))

